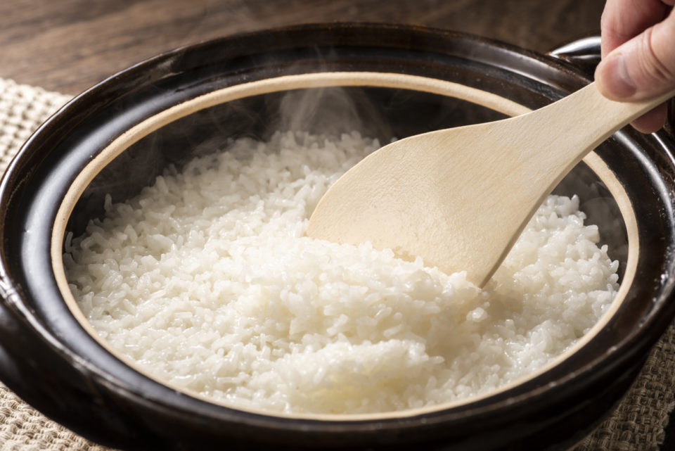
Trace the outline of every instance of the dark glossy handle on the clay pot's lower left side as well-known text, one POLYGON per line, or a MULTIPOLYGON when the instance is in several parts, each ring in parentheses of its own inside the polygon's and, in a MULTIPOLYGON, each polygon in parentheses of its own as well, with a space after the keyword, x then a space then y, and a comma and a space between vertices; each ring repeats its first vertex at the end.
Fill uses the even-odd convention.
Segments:
MULTIPOLYGON (((1 270, 0 270, 1 272, 1 270)), ((54 343, 27 324, 20 298, 0 274, 0 379, 25 402, 60 424, 90 440, 119 445, 120 438, 138 433, 139 419, 129 414, 121 400, 111 399, 101 389, 102 381, 76 358, 68 359, 54 343), (49 376, 45 376, 49 371, 49 376), (101 428, 101 424, 106 424, 101 428)), ((153 412, 154 413, 154 412, 153 412)), ((149 444, 147 444, 149 445, 149 444)), ((141 448, 139 448, 141 449, 141 448)))

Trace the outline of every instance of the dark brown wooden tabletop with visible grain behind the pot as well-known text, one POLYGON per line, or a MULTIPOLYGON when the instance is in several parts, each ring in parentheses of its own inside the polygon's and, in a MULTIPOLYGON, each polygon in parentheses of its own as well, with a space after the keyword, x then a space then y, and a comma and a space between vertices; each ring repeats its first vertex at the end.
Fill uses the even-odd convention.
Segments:
MULTIPOLYGON (((546 52, 599 34, 603 6, 603 0, 4 0, 0 77, 78 94, 178 46, 332 21, 444 27, 546 52)), ((664 450, 675 448, 674 423, 664 450)))

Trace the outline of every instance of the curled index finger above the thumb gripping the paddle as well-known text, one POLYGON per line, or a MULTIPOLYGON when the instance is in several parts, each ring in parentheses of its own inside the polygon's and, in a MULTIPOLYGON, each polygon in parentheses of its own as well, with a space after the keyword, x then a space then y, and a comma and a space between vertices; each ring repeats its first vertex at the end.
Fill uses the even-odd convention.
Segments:
POLYGON ((675 0, 608 0, 600 19, 603 58, 643 30, 664 20, 674 3, 675 0))

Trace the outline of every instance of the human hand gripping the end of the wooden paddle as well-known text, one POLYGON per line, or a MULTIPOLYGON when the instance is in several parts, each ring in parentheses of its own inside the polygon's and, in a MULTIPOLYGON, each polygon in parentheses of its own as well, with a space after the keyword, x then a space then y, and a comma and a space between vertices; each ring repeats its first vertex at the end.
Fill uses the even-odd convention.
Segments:
MULTIPOLYGON (((639 101, 675 89, 675 0, 607 0, 600 21, 598 90, 608 99, 639 101)), ((666 120, 666 104, 632 122, 643 133, 666 120)))

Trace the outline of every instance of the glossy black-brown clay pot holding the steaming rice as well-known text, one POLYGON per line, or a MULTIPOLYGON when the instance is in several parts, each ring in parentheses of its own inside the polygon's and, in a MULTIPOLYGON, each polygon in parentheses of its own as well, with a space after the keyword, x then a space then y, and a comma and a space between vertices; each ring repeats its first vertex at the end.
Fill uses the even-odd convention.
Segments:
POLYGON ((388 140, 559 99, 589 82, 567 61, 575 52, 544 56, 420 27, 310 25, 186 47, 105 80, 51 117, 2 179, 0 378, 56 421, 129 450, 574 445, 610 412, 674 317, 675 158, 666 134, 617 132, 556 189, 579 195, 621 263, 611 315, 546 371, 458 405, 296 418, 181 393, 89 334, 65 296, 60 255, 64 231, 100 215, 105 193, 122 201, 166 165, 228 137, 264 139, 289 125, 280 111, 293 99, 314 99, 316 113, 301 117, 306 129, 341 117, 340 127, 388 140))

